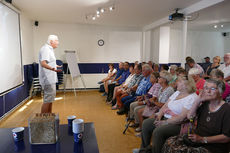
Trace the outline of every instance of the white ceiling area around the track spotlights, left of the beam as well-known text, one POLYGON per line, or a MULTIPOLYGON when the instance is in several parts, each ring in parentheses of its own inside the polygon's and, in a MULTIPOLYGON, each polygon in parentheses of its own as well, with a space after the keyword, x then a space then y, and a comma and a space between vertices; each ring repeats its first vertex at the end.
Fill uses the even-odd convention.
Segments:
POLYGON ((99 24, 109 26, 143 27, 159 20, 175 8, 186 8, 200 0, 13 0, 32 20, 99 24), (87 20, 87 14, 99 7, 115 4, 113 12, 107 12, 96 21, 87 20))

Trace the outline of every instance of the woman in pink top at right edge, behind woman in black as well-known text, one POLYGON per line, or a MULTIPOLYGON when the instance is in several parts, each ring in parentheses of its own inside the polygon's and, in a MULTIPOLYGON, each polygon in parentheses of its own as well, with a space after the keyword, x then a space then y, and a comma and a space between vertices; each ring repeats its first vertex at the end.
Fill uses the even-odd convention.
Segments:
MULTIPOLYGON (((212 79, 224 81, 224 73, 219 69, 213 69, 210 73, 210 76, 212 79)), ((223 100, 225 100, 229 94, 230 94, 230 86, 227 82, 225 82, 225 90, 224 93, 222 94, 223 100)))

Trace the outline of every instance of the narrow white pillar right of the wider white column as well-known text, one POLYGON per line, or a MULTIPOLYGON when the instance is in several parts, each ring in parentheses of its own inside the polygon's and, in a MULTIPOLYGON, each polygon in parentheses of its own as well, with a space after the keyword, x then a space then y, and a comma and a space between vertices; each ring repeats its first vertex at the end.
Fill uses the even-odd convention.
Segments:
POLYGON ((182 30, 182 56, 181 56, 181 66, 185 66, 186 56, 191 56, 186 54, 187 50, 187 32, 188 32, 188 22, 183 21, 183 30, 182 30))

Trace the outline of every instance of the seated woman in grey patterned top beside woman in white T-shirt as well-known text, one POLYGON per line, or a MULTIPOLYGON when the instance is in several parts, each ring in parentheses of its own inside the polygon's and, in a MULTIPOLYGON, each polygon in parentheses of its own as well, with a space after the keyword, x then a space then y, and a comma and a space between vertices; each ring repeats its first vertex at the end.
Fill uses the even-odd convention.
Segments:
POLYGON ((141 131, 143 119, 148 118, 154 113, 158 112, 159 109, 168 101, 169 97, 174 93, 174 89, 169 86, 171 79, 172 77, 169 72, 160 72, 160 77, 158 78, 158 83, 161 86, 160 91, 157 96, 153 96, 151 99, 147 100, 147 105, 137 112, 136 116, 138 116, 140 126, 135 130, 136 132, 141 131))

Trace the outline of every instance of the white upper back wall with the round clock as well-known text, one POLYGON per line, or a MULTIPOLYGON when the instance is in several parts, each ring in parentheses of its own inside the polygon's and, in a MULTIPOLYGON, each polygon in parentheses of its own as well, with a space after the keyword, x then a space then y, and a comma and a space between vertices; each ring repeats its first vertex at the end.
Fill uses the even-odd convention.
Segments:
POLYGON ((55 51, 57 59, 65 61, 64 50, 75 50, 81 63, 140 60, 141 31, 139 30, 39 22, 39 26, 34 27, 33 34, 36 60, 49 34, 59 36, 60 45, 55 51), (98 46, 99 39, 105 41, 104 46, 98 46))

